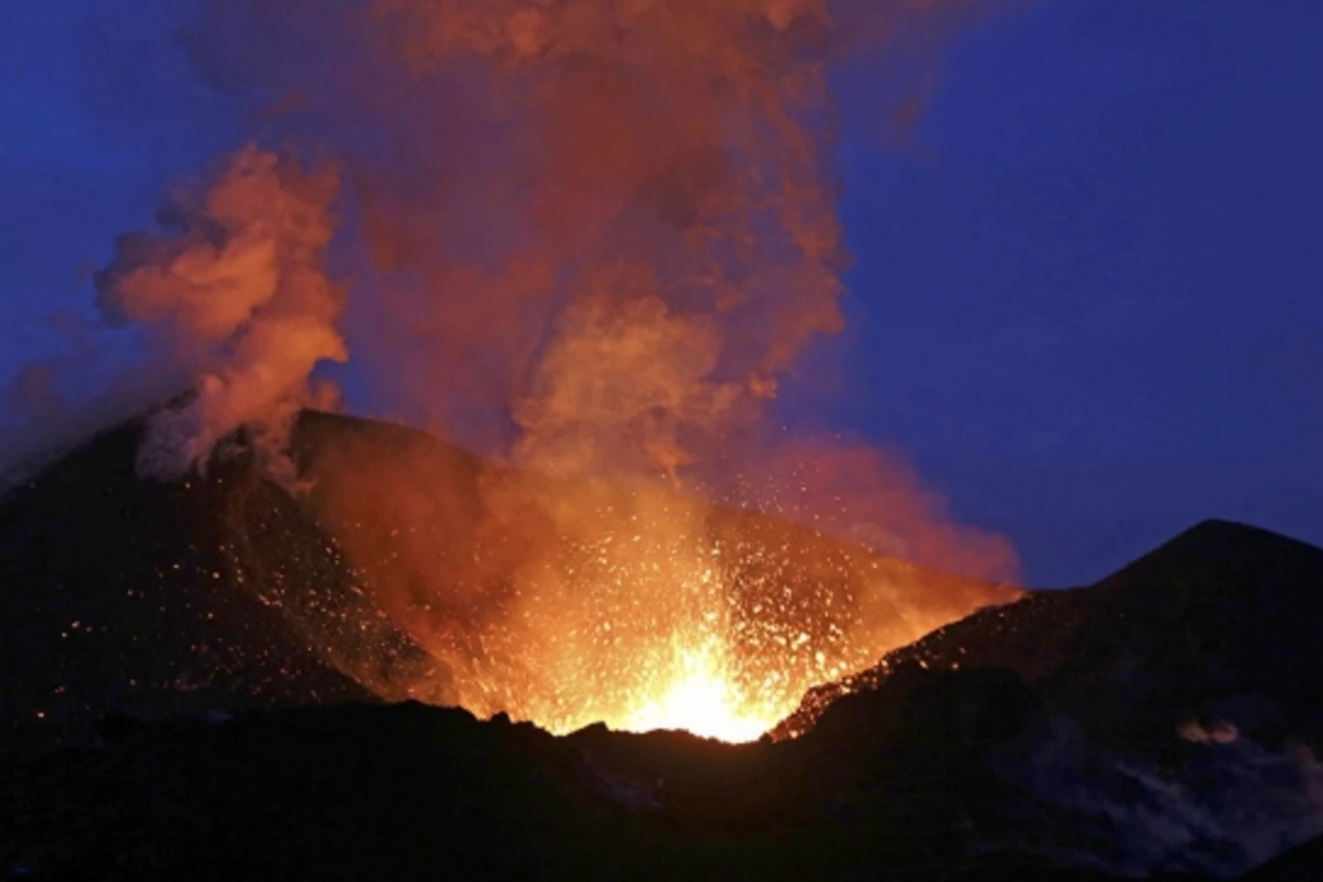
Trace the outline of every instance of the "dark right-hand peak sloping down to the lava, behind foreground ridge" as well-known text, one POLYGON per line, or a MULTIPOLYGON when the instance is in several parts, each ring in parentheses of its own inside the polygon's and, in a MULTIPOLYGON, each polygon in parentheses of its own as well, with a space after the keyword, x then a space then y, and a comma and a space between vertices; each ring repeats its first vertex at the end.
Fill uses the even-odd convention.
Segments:
POLYGON ((807 696, 781 731, 804 730, 835 696, 873 689, 905 664, 992 665, 1118 744, 1207 717, 1316 747, 1320 625, 1323 550, 1205 521, 1094 586, 1035 592, 889 653, 807 696))

